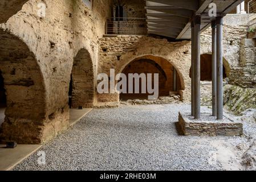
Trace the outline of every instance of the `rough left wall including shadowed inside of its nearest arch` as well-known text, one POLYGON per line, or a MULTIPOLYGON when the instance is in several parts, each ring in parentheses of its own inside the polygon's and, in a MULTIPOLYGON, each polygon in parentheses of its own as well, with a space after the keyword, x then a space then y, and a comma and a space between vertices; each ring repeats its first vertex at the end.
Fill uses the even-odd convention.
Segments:
POLYGON ((95 1, 92 10, 82 0, 30 0, 0 25, 0 69, 7 90, 2 140, 43 143, 68 127, 74 57, 80 49, 88 51, 96 84, 97 39, 110 6, 110 0, 95 1), (42 2, 46 17, 37 14, 42 2))

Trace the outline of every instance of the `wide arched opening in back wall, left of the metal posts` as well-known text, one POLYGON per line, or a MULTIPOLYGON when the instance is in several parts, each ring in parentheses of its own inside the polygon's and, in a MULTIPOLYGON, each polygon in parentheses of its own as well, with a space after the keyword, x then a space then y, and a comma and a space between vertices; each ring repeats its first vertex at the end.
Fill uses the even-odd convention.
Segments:
MULTIPOLYGON (((125 66, 122 73, 124 73, 127 78, 129 77, 129 73, 138 73, 139 75, 141 73, 145 73, 146 75, 148 73, 153 74, 157 73, 159 74, 159 97, 160 96, 169 96, 170 92, 176 92, 178 94, 178 90, 182 90, 181 86, 181 79, 180 75, 174 68, 172 64, 169 63, 169 61, 162 59, 161 57, 155 57, 155 56, 144 56, 139 57, 128 65, 125 66), (175 79, 174 79, 175 76, 175 79)), ((140 80, 140 93, 120 93, 120 100, 121 101, 127 101, 127 100, 147 100, 148 96, 151 95, 148 92, 147 93, 141 93, 141 85, 142 80, 140 80)), ((148 80, 146 81, 146 85, 148 84, 148 80)), ((133 82, 135 84, 135 82, 133 82)), ((152 86, 154 85, 154 80, 152 80, 152 86)), ((128 89, 128 85, 127 85, 128 89)), ((134 85, 133 85, 134 90, 134 85)))

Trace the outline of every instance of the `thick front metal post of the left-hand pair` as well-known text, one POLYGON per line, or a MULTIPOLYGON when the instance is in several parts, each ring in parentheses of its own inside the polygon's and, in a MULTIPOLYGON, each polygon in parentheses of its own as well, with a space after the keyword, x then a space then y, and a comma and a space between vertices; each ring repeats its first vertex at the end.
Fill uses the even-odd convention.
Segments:
POLYGON ((200 101, 200 32, 201 17, 194 18, 194 118, 201 117, 201 101, 200 101))

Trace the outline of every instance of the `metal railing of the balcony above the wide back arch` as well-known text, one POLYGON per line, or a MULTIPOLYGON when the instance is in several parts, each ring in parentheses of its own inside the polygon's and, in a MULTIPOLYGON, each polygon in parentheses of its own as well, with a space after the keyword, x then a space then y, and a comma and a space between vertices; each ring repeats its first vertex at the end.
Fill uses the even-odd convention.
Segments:
POLYGON ((147 35, 146 18, 107 18, 106 34, 147 35))

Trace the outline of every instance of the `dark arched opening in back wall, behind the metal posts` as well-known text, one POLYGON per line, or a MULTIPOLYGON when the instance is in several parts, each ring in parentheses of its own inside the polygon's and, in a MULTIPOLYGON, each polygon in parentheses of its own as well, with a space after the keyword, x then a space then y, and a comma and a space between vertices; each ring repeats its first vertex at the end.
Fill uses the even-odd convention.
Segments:
MULTIPOLYGON (((203 53, 200 56, 201 59, 201 81, 212 81, 212 54, 203 53)), ((223 57, 223 78, 229 77, 230 74, 230 65, 223 57)), ((191 78, 191 68, 189 76, 191 78)))

